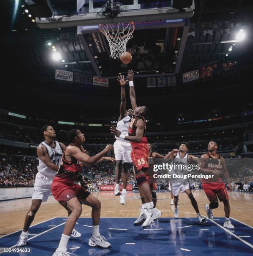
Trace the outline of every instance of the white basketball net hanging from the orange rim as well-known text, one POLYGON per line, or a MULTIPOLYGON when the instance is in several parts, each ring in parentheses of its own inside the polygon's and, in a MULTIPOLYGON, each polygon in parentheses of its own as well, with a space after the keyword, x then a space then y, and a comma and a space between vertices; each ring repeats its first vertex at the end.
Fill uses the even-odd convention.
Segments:
POLYGON ((111 57, 120 58, 120 55, 126 51, 126 44, 133 37, 135 30, 134 22, 128 24, 100 24, 99 31, 105 35, 110 46, 111 57))

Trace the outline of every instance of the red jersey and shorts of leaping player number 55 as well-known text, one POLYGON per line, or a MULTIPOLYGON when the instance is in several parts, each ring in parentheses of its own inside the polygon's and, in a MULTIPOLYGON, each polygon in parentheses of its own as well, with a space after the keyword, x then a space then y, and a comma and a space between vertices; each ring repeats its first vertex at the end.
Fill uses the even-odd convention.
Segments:
MULTIPOLYGON (((136 123, 139 119, 143 120, 143 122, 145 124, 143 136, 145 135, 145 130, 146 130, 145 118, 142 115, 133 115, 129 122, 129 128, 128 128, 129 136, 136 135, 136 129, 137 129, 136 123)), ((147 138, 142 137, 140 142, 130 141, 130 143, 132 146, 131 159, 132 159, 133 164, 136 167, 136 169, 140 170, 142 168, 148 168, 148 141, 147 141, 147 138)))

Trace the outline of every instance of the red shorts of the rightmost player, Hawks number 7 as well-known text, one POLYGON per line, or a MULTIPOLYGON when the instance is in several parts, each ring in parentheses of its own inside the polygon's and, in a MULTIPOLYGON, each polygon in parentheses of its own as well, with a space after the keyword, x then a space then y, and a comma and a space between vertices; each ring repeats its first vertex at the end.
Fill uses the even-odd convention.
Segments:
POLYGON ((224 183, 202 183, 202 187, 205 191, 205 195, 207 196, 210 202, 217 202, 217 197, 221 201, 228 200, 228 192, 226 190, 224 183))

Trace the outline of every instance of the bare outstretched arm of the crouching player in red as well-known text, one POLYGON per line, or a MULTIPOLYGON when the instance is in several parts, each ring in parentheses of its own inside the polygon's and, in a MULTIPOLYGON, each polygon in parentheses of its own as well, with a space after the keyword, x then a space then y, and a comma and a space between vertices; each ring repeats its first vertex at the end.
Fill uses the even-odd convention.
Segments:
POLYGON ((95 164, 98 162, 107 152, 113 149, 113 145, 108 144, 104 150, 95 156, 89 156, 88 154, 83 153, 80 148, 75 146, 69 146, 65 152, 66 155, 73 156, 75 159, 85 163, 85 164, 95 164))

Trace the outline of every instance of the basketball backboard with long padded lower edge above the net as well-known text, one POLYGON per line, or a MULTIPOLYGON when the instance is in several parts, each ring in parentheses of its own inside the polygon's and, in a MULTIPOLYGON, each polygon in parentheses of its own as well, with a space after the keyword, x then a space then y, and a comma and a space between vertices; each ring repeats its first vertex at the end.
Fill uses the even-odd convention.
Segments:
POLYGON ((189 8, 182 10, 174 9, 172 3, 173 0, 110 0, 108 9, 113 9, 113 15, 110 16, 106 15, 106 0, 77 0, 76 15, 53 15, 51 18, 36 18, 36 22, 40 28, 62 28, 133 20, 137 22, 147 17, 149 20, 168 20, 193 16, 194 1, 189 8))

